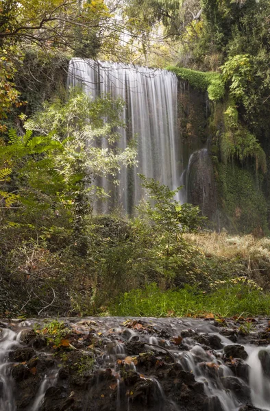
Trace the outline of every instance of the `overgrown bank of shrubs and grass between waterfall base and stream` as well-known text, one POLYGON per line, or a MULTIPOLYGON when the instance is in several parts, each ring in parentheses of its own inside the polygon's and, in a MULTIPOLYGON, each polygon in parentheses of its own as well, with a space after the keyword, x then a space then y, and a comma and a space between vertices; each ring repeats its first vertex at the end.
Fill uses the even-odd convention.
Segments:
POLYGON ((86 257, 31 241, 7 252, 0 316, 269 314, 269 238, 184 234, 167 258, 128 220, 103 216, 90 233, 86 257))

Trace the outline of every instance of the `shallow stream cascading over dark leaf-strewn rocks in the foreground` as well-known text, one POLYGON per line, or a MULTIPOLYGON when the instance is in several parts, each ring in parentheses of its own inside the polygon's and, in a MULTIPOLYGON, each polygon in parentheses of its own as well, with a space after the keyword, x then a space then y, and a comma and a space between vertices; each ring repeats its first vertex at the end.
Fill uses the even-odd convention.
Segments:
POLYGON ((63 321, 60 348, 33 331, 42 320, 0 323, 0 411, 270 410, 264 319, 246 333, 199 319, 63 321))

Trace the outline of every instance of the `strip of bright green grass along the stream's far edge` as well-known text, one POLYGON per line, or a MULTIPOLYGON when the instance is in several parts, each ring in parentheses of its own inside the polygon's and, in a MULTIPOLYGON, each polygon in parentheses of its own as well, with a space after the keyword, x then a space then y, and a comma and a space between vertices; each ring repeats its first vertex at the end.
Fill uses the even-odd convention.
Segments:
POLYGON ((116 316, 269 315, 270 295, 242 284, 213 292, 185 287, 162 291, 156 284, 126 292, 110 312, 116 316))

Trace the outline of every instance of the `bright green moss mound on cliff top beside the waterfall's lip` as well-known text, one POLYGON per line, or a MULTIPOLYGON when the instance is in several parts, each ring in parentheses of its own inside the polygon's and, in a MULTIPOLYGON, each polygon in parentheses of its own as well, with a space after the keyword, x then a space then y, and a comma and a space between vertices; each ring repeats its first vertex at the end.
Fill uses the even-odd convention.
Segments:
POLYGON ((208 92, 212 101, 218 101, 225 95, 225 86, 221 74, 214 71, 195 71, 183 67, 169 66, 167 70, 173 71, 180 79, 186 80, 193 88, 208 92))

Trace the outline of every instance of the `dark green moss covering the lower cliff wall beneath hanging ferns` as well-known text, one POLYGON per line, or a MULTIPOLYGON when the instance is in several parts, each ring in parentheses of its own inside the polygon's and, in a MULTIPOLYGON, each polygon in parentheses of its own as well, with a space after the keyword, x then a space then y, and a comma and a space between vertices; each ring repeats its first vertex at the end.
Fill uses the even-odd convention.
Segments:
POLYGON ((267 203, 260 175, 234 164, 216 165, 219 208, 233 232, 250 233, 259 227, 267 234, 267 203))

